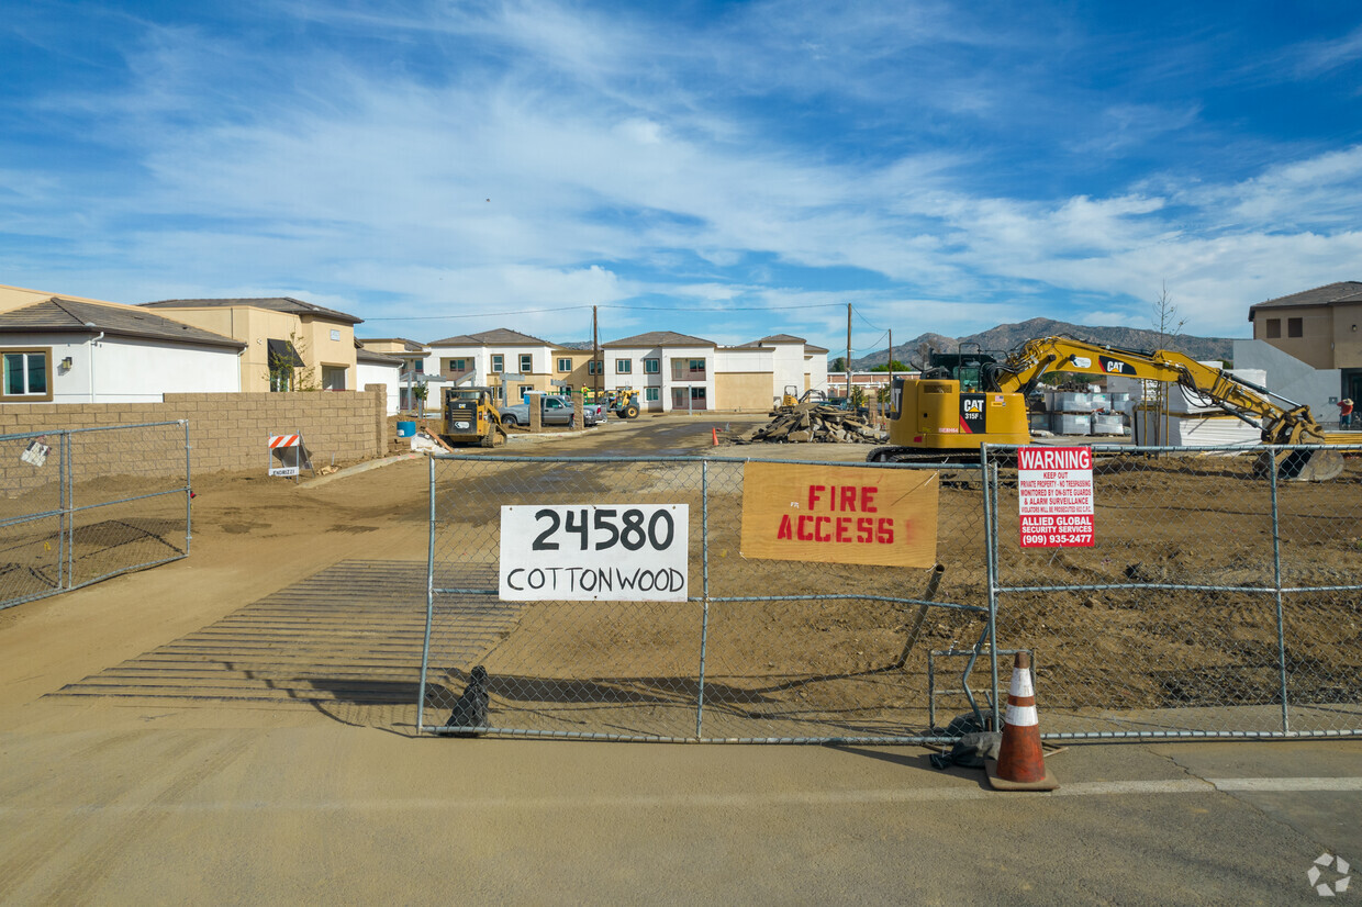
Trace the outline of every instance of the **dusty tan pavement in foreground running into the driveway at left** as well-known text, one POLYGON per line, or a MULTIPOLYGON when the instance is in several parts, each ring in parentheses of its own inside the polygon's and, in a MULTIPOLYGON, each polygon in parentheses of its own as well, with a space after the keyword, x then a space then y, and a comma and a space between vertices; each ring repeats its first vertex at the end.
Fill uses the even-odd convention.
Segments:
MULTIPOLYGON (((712 437, 655 425, 665 449, 712 437)), ((612 426, 524 449, 631 441, 612 426)), ((915 748, 429 739, 399 704, 287 689, 69 695, 244 620, 272 621, 282 661, 326 620, 309 579, 424 562, 425 482, 418 460, 308 489, 196 481, 192 557, 0 611, 0 902, 1316 903, 1321 851, 1362 865, 1351 741, 1077 746, 1060 797, 1008 798, 915 748), (313 617, 290 624, 271 599, 300 586, 313 617)), ((330 656, 377 670, 360 662, 372 629, 349 629, 330 656)))

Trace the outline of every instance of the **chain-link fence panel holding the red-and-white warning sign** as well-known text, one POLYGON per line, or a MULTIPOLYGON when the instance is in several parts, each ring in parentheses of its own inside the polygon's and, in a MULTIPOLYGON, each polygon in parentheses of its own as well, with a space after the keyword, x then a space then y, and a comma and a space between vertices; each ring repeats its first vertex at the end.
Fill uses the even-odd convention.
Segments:
POLYGON ((1362 734, 1362 447, 1328 482, 1272 454, 1092 445, 1092 547, 1022 547, 987 447, 997 639, 1043 652, 1046 738, 1362 734))

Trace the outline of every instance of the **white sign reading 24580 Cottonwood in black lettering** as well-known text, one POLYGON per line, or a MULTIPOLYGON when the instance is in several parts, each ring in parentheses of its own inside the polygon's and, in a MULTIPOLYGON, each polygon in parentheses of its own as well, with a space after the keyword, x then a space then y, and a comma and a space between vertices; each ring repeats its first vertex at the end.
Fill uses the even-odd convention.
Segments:
POLYGON ((498 595, 508 602, 684 602, 686 504, 501 508, 498 595))

